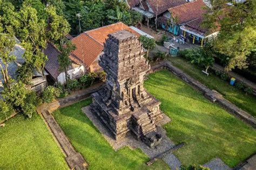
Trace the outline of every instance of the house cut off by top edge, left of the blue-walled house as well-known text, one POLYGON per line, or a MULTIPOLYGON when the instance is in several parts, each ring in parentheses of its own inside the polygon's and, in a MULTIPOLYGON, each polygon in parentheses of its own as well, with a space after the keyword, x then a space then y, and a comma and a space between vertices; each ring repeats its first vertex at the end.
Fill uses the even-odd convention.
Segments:
POLYGON ((155 19, 162 15, 165 11, 175 6, 187 3, 189 0, 127 0, 127 4, 131 9, 142 13, 145 18, 146 25, 155 23, 155 19))

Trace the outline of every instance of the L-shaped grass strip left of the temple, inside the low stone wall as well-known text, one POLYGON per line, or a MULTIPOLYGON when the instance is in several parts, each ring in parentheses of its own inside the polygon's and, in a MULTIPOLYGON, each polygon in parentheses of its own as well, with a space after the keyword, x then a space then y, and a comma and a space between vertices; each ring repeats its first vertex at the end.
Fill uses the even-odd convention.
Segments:
POLYGON ((139 149, 123 147, 115 152, 81 110, 91 102, 88 99, 53 112, 72 145, 88 162, 89 169, 169 169, 162 160, 147 167, 149 158, 139 149))

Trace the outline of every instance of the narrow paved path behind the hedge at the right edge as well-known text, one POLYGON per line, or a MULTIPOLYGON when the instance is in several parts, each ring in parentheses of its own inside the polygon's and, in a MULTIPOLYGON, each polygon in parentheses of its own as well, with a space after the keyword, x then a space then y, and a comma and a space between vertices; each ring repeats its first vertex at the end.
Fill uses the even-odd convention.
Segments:
MULTIPOLYGON (((214 63, 213 68, 219 70, 220 72, 225 72, 225 69, 223 66, 218 65, 217 63, 214 63)), ((228 72, 228 75, 230 75, 231 77, 235 77, 235 79, 237 79, 240 82, 244 82, 246 84, 246 86, 251 87, 253 90, 256 91, 256 84, 250 80, 245 79, 245 77, 234 73, 234 72, 228 72)))

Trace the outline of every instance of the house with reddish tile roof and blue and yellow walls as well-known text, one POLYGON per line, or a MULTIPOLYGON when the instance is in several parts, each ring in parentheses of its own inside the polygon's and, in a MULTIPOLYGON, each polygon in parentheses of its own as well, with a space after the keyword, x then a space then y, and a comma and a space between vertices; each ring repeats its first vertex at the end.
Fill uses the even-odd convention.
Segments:
POLYGON ((203 0, 188 2, 166 11, 159 18, 161 27, 174 35, 182 35, 192 44, 203 45, 204 39, 214 36, 218 30, 208 32, 200 24, 204 20, 204 13, 207 12, 207 5, 203 0))

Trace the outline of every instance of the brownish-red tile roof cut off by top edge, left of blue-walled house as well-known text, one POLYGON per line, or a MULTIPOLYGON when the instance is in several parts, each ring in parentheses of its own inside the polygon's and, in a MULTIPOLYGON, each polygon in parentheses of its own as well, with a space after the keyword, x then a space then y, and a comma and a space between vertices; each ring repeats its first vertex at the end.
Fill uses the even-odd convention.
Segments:
POLYGON ((153 12, 157 15, 167 11, 170 8, 186 4, 186 0, 147 0, 153 12), (157 3, 158 2, 158 3, 157 3))

